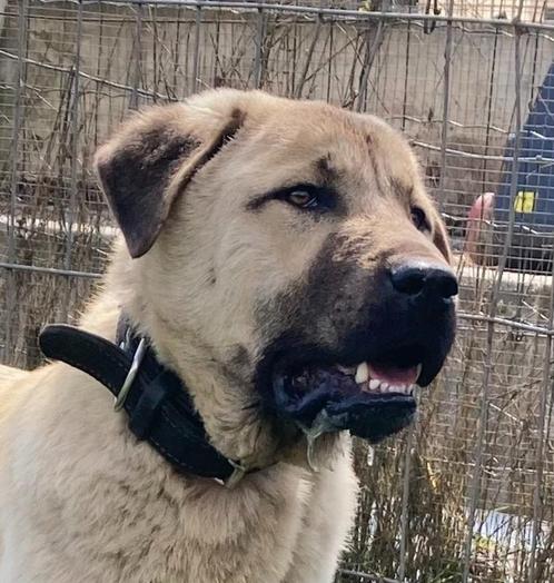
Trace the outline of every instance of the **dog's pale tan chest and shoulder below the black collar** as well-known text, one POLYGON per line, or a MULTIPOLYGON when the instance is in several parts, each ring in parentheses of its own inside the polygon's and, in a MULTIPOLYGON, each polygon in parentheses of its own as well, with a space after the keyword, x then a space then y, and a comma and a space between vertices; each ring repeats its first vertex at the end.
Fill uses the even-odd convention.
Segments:
POLYGON ((234 491, 187 481, 106 416, 111 399, 89 377, 65 365, 34 376, 0 424, 0 581, 332 580, 354 505, 346 456, 311 476, 279 464, 234 491))

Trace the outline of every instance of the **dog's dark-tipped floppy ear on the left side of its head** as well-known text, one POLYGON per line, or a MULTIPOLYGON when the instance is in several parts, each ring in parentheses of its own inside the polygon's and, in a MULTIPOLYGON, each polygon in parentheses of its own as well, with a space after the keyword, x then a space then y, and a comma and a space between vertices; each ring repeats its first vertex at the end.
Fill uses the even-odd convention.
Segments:
POLYGON ((150 249, 177 196, 241 121, 238 109, 207 116, 185 103, 152 107, 98 150, 96 168, 131 257, 150 249))

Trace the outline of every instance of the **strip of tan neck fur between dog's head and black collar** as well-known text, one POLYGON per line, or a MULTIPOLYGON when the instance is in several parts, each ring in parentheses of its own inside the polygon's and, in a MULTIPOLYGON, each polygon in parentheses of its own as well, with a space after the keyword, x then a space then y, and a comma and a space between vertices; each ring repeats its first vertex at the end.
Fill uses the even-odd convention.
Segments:
MULTIPOLYGON (((119 248, 106 276, 105 292, 87 310, 81 326, 116 342, 122 313, 138 334, 150 339, 159 362, 175 372, 187 387, 214 446, 246 467, 268 467, 277 462, 307 466, 307 444, 263 415, 259 395, 247 378, 218 363, 209 346, 194 330, 176 328, 151 309, 142 296, 140 270, 133 269, 119 248)), ((333 461, 338 435, 324 435, 314 451, 317 465, 333 461)), ((342 447, 338 447, 342 451, 342 447)))

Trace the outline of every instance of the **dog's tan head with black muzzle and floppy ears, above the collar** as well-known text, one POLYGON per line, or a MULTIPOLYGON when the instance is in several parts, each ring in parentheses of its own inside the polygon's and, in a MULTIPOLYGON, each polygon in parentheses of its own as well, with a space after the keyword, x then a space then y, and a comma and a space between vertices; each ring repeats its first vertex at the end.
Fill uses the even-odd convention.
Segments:
POLYGON ((112 269, 126 307, 225 453, 408 423, 452 346, 457 284, 398 132, 218 90, 135 117, 97 168, 135 258, 112 269))

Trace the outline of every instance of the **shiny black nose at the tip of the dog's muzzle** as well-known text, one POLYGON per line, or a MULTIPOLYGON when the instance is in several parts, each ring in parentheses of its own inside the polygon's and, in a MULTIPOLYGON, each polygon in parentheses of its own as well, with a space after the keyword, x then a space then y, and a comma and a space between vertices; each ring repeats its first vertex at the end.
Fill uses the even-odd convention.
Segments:
POLYGON ((390 269, 393 287, 408 296, 434 296, 448 299, 458 293, 456 276, 441 265, 410 261, 390 269))

